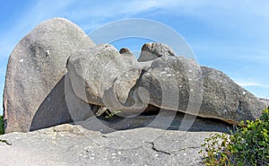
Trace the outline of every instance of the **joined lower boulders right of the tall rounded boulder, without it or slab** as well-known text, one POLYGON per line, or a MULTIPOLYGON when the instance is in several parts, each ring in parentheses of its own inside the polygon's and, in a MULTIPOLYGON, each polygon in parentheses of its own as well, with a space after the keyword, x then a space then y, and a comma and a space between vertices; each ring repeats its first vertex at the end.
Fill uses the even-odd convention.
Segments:
POLYGON ((226 74, 171 56, 165 45, 145 44, 143 50, 157 57, 137 63, 128 49, 120 54, 108 44, 75 52, 67 66, 75 94, 123 113, 143 112, 152 105, 230 124, 258 118, 266 108, 226 74))

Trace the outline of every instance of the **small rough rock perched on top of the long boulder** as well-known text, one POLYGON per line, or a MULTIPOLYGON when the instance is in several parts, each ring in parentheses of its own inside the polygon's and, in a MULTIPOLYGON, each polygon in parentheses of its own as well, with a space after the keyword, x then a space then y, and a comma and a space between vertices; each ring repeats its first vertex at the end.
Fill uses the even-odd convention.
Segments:
POLYGON ((138 62, 154 60, 158 57, 176 56, 172 48, 163 43, 145 43, 142 47, 138 62))

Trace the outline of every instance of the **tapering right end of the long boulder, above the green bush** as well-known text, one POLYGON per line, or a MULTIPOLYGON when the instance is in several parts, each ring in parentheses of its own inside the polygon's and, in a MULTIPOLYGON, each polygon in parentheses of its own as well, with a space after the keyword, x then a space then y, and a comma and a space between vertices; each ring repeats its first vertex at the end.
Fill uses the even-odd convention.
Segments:
POLYGON ((204 77, 201 117, 235 123, 258 118, 266 109, 265 102, 233 82, 228 75, 205 66, 201 70, 204 77))

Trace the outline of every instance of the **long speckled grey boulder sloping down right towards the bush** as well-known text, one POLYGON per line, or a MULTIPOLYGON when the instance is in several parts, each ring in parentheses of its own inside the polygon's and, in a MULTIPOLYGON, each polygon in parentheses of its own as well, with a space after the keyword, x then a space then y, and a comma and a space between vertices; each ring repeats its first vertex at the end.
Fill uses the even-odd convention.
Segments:
POLYGON ((218 118, 231 124, 258 118, 266 108, 264 102, 226 74, 200 67, 185 57, 153 60, 136 84, 138 87, 149 92, 149 103, 155 107, 218 118))

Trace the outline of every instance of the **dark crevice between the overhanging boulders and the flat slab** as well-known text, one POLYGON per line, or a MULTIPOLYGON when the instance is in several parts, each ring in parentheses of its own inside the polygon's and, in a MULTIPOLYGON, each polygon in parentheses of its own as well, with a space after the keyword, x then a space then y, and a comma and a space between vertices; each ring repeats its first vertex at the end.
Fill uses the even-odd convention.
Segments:
MULTIPOLYGON (((174 110, 165 110, 165 112, 169 112, 169 111, 174 112, 174 110)), ((98 119, 100 123, 114 130, 127 130, 127 129, 139 128, 139 127, 153 127, 153 128, 161 128, 161 129, 166 129, 166 130, 182 131, 182 125, 184 125, 183 119, 186 118, 186 116, 190 118, 190 119, 185 119, 187 120, 187 122, 194 120, 193 124, 187 123, 188 125, 191 125, 187 127, 188 132, 221 132, 221 133, 230 134, 230 130, 233 130, 234 128, 232 125, 218 119, 200 118, 196 116, 190 116, 188 114, 186 115, 185 113, 181 113, 181 112, 172 114, 173 115, 172 117, 171 116, 166 117, 165 115, 159 115, 160 112, 161 111, 144 112, 133 118, 125 118, 125 117, 114 115, 111 118, 105 118, 101 116, 98 119), (152 125, 153 120, 155 120, 158 116, 159 116, 160 122, 152 125), (168 120, 170 120, 169 124, 167 124, 168 120)), ((102 131, 105 131, 104 128, 91 127, 91 129, 96 130, 96 131, 100 131, 101 129, 102 131)), ((110 133, 110 132, 113 132, 113 131, 108 131, 105 133, 110 133)))

